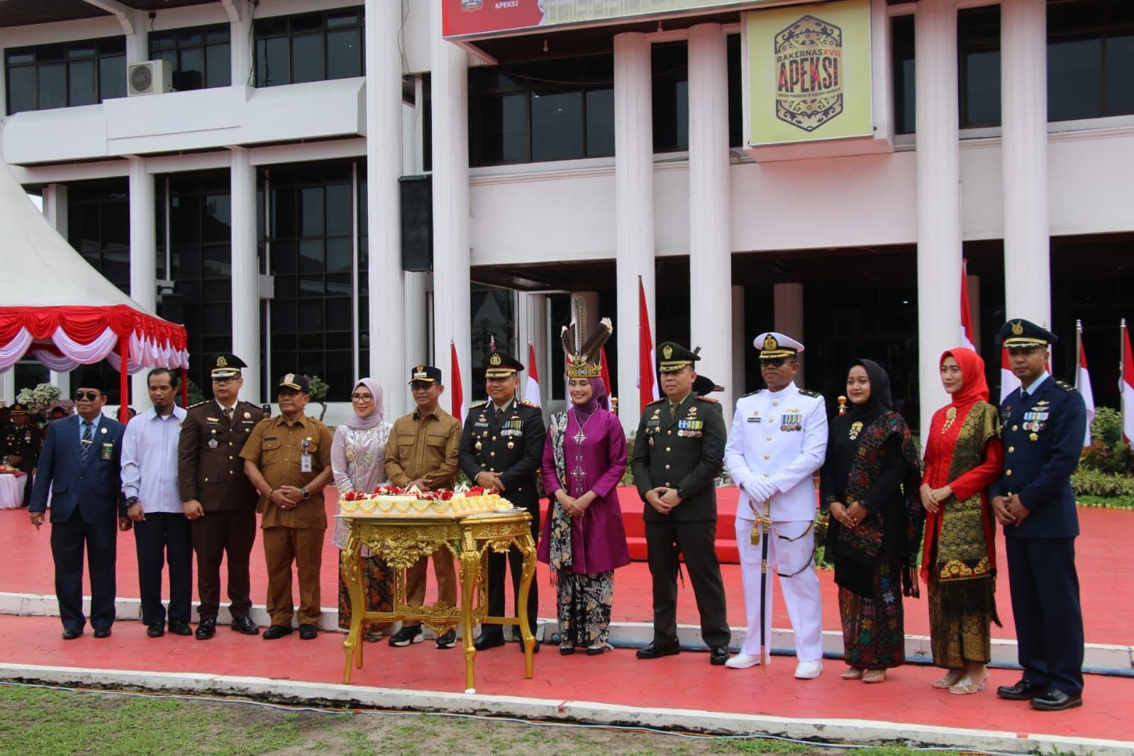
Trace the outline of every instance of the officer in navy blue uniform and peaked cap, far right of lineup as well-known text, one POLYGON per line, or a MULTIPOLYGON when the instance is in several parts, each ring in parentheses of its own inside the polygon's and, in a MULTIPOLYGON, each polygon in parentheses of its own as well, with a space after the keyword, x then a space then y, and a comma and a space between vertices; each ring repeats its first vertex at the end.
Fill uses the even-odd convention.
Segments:
POLYGON ((992 511, 1004 525, 1008 585, 1024 677, 997 695, 1032 708, 1083 705, 1083 612, 1075 572, 1078 517, 1070 475, 1078 466, 1086 407, 1073 387, 1048 374, 1055 333, 1025 320, 1000 329, 1021 388, 1000 404, 1004 475, 992 511))

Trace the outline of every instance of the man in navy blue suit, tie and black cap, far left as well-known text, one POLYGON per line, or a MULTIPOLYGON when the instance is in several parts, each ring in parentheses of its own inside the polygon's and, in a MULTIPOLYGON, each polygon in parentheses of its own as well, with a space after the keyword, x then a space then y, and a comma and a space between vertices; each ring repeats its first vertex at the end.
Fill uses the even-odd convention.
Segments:
POLYGON ((86 376, 75 392, 77 415, 48 426, 32 490, 32 525, 43 525, 51 489, 51 557, 64 640, 83 635, 83 550, 91 568, 91 626, 95 638, 115 623, 116 528, 130 529, 118 472, 126 426, 102 416, 101 379, 86 376), (52 486, 52 484, 54 484, 52 486))

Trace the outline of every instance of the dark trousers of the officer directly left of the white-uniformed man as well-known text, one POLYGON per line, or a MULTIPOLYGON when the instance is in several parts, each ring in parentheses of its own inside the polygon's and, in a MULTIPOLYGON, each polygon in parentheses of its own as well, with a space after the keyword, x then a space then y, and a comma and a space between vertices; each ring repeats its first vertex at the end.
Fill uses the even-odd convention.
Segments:
POLYGON ((701 614, 701 639, 727 646, 733 637, 725 604, 725 583, 717 561, 717 523, 646 523, 646 560, 653 583, 653 640, 677 642, 677 567, 680 554, 701 614))

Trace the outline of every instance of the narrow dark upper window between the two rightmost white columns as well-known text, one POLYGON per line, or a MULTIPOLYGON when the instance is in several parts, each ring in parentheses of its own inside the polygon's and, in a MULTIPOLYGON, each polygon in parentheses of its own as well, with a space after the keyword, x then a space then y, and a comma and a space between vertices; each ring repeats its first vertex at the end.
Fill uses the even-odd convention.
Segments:
POLYGON ((1000 7, 957 11, 960 127, 1000 125, 1000 7))

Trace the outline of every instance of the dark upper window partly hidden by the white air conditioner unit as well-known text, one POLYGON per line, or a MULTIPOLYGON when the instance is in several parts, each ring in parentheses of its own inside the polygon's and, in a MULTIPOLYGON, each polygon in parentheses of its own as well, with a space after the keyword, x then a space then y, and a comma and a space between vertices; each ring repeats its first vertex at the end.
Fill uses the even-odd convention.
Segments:
POLYGON ((150 59, 174 67, 174 88, 179 92, 232 83, 228 24, 195 26, 150 33, 150 59))

